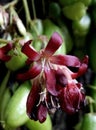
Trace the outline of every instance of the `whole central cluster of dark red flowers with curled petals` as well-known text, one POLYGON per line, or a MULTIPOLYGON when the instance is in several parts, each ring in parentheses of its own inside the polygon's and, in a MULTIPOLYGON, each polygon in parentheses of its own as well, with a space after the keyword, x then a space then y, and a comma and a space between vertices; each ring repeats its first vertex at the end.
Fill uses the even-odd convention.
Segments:
POLYGON ((27 72, 18 74, 19 80, 32 80, 32 89, 27 99, 27 114, 31 119, 46 120, 47 112, 62 108, 72 114, 77 112, 84 102, 85 94, 76 78, 87 70, 88 56, 82 61, 71 55, 54 54, 62 45, 61 36, 55 32, 47 46, 37 52, 31 40, 22 47, 27 55, 27 72), (76 68, 73 72, 71 68, 76 68))

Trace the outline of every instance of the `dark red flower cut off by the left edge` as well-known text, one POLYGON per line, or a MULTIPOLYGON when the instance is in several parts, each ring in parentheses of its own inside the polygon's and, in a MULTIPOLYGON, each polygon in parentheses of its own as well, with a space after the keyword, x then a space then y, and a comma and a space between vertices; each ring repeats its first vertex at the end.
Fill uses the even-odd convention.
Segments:
POLYGON ((8 61, 10 60, 10 56, 7 53, 12 49, 12 43, 8 43, 7 45, 0 48, 0 60, 8 61))

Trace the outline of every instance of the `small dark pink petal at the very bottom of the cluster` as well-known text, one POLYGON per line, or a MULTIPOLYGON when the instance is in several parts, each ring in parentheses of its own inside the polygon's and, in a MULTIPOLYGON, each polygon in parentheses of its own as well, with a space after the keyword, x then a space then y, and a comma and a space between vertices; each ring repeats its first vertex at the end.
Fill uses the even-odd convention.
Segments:
POLYGON ((47 107, 43 104, 40 104, 39 108, 38 108, 38 120, 40 121, 40 123, 43 123, 46 120, 47 117, 47 107))

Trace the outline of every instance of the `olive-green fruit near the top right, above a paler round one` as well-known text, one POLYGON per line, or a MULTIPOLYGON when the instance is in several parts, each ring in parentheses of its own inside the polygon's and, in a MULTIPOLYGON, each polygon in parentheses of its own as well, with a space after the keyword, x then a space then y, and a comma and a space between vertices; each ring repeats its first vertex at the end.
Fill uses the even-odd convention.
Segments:
POLYGON ((80 20, 86 14, 86 6, 82 2, 63 7, 63 14, 70 20, 80 20))

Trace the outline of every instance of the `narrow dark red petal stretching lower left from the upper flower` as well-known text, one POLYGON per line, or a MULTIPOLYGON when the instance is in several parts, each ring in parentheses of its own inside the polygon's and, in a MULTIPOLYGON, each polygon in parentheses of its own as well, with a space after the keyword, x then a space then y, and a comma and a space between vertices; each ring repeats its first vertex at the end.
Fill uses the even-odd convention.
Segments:
POLYGON ((41 64, 37 63, 33 67, 31 67, 27 72, 18 74, 17 79, 22 81, 33 79, 40 74, 41 69, 41 64))

